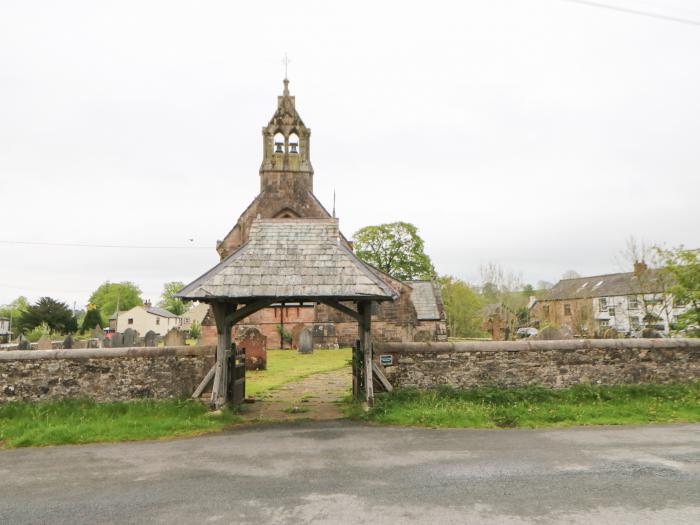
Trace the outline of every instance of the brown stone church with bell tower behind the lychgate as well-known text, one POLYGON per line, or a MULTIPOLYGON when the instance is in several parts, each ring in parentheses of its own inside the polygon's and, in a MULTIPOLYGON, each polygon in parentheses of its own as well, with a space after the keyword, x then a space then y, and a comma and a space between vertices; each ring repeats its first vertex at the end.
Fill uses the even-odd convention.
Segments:
MULTIPOLYGON (((330 219, 333 216, 313 192, 311 130, 296 110, 289 94, 289 80, 277 97, 277 110, 262 130, 263 159, 260 166, 260 193, 243 211, 216 250, 226 259, 248 241, 254 219, 330 219)), ((334 217, 333 217, 334 218, 334 217)), ((352 243, 341 235, 340 242, 352 250, 352 243)), ((445 312, 437 284, 431 281, 399 281, 372 269, 399 292, 395 302, 381 303, 372 312, 374 341, 446 341, 445 312)), ((352 307, 352 305, 348 305, 352 307)), ((211 312, 203 323, 203 338, 215 341, 216 326, 211 312)), ((357 339, 357 321, 348 315, 317 303, 273 304, 234 327, 237 333, 256 328, 267 337, 269 348, 297 348, 305 329, 313 334, 316 348, 352 346, 357 339)))

